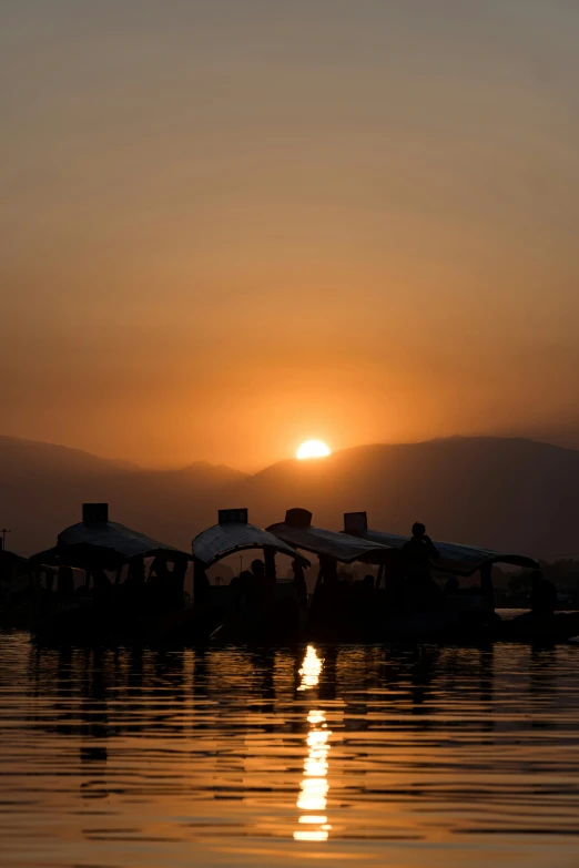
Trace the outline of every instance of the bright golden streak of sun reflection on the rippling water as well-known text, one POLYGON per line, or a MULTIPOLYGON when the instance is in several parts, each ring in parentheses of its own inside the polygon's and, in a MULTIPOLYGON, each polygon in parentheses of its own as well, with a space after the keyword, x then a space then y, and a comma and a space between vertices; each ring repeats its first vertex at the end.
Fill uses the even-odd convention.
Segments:
MULTIPOLYGON (((313 645, 308 645, 299 675, 302 683, 299 691, 308 691, 316 687, 322 673, 323 661, 318 657, 313 645)), ((304 759, 304 777, 299 785, 297 807, 304 811, 299 819, 299 826, 306 827, 294 831, 294 839, 298 841, 325 841, 328 838, 332 826, 325 815, 327 794, 327 757, 329 754, 331 731, 327 728, 325 713, 312 709, 307 715, 309 732, 307 734, 307 756, 304 759)))

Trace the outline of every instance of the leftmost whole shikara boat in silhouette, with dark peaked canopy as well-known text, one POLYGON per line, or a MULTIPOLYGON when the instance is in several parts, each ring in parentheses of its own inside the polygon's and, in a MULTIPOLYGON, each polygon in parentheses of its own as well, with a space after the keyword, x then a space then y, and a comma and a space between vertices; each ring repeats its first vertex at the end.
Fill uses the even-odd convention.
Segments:
POLYGON ((34 633, 57 642, 206 639, 219 615, 209 607, 187 610, 183 602, 183 581, 192 560, 186 552, 109 521, 106 503, 84 503, 82 522, 63 530, 55 547, 30 559, 34 633), (52 582, 42 578, 54 568, 59 581, 52 591, 52 582), (84 588, 74 591, 71 582, 60 586, 61 574, 70 568, 84 572, 84 588), (114 582, 110 572, 115 573, 114 582))

